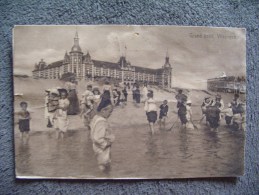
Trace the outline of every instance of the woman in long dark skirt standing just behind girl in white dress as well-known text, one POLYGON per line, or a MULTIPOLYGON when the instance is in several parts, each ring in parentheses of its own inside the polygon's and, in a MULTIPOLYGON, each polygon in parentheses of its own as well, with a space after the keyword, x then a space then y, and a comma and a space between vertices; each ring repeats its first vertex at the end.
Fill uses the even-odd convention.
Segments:
POLYGON ((79 101, 77 97, 76 81, 74 78, 71 78, 70 81, 65 83, 65 89, 68 92, 67 98, 70 102, 67 114, 76 115, 79 112, 79 101))

